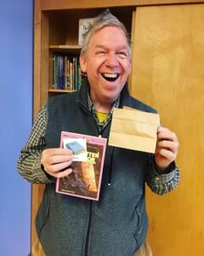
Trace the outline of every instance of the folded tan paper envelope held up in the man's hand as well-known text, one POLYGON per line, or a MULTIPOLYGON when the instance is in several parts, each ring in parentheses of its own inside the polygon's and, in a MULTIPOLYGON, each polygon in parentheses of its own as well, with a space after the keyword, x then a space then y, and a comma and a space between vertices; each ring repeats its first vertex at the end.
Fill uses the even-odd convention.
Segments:
POLYGON ((127 107, 115 108, 109 145, 155 153, 156 133, 159 126, 160 118, 157 113, 147 113, 127 107))

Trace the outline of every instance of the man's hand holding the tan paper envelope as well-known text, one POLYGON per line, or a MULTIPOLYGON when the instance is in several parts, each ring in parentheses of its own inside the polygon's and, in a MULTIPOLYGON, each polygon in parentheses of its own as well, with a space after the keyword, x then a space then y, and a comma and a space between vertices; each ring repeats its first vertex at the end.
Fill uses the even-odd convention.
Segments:
POLYGON ((166 169, 176 159, 177 154, 177 136, 167 128, 159 127, 155 153, 156 166, 161 170, 166 169))

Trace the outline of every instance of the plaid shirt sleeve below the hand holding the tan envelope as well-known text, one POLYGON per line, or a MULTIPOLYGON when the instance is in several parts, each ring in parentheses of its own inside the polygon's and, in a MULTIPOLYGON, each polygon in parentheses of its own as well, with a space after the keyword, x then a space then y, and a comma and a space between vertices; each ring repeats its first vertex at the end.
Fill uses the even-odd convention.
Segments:
POLYGON ((180 172, 175 162, 171 163, 165 172, 158 172, 152 156, 146 172, 146 183, 153 192, 164 195, 172 191, 178 186, 179 177, 180 172))

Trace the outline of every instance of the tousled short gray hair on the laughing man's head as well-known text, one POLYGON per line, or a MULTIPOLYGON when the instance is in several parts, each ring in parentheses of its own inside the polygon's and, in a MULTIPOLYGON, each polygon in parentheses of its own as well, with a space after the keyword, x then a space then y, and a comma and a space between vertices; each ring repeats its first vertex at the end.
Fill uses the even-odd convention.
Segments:
POLYGON ((122 28, 128 44, 128 54, 131 56, 131 46, 130 46, 130 37, 129 33, 127 32, 126 27, 122 24, 120 20, 116 18, 116 16, 112 15, 109 9, 105 9, 100 15, 94 18, 94 22, 89 26, 88 31, 83 34, 82 40, 82 49, 81 55, 86 54, 88 49, 88 44, 90 39, 93 37, 94 33, 99 31, 100 29, 104 28, 105 26, 117 26, 122 28))

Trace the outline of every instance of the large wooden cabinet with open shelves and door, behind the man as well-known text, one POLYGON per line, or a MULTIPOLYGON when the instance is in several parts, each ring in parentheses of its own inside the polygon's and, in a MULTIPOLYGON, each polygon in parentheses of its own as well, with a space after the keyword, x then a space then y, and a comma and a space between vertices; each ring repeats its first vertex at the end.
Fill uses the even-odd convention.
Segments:
MULTIPOLYGON (((204 9, 201 3, 204 1, 35 0, 34 119, 48 96, 62 93, 53 90, 54 53, 80 54, 79 19, 94 17, 102 9, 110 8, 131 33, 131 93, 157 108, 162 122, 180 139, 178 166, 182 180, 178 189, 162 199, 147 189, 148 239, 156 256, 204 253, 201 243, 204 236, 204 166, 201 162, 204 141, 199 128, 203 126, 204 100, 201 73, 204 64, 204 9), (193 70, 191 76, 190 70, 193 70), (193 131, 193 136, 190 136, 190 131, 193 131), (198 143, 198 148, 192 146, 193 143, 198 143), (190 148, 193 148, 193 154, 190 154, 190 148)), ((43 186, 32 186, 32 244, 37 241, 34 220, 42 191, 43 186)))

